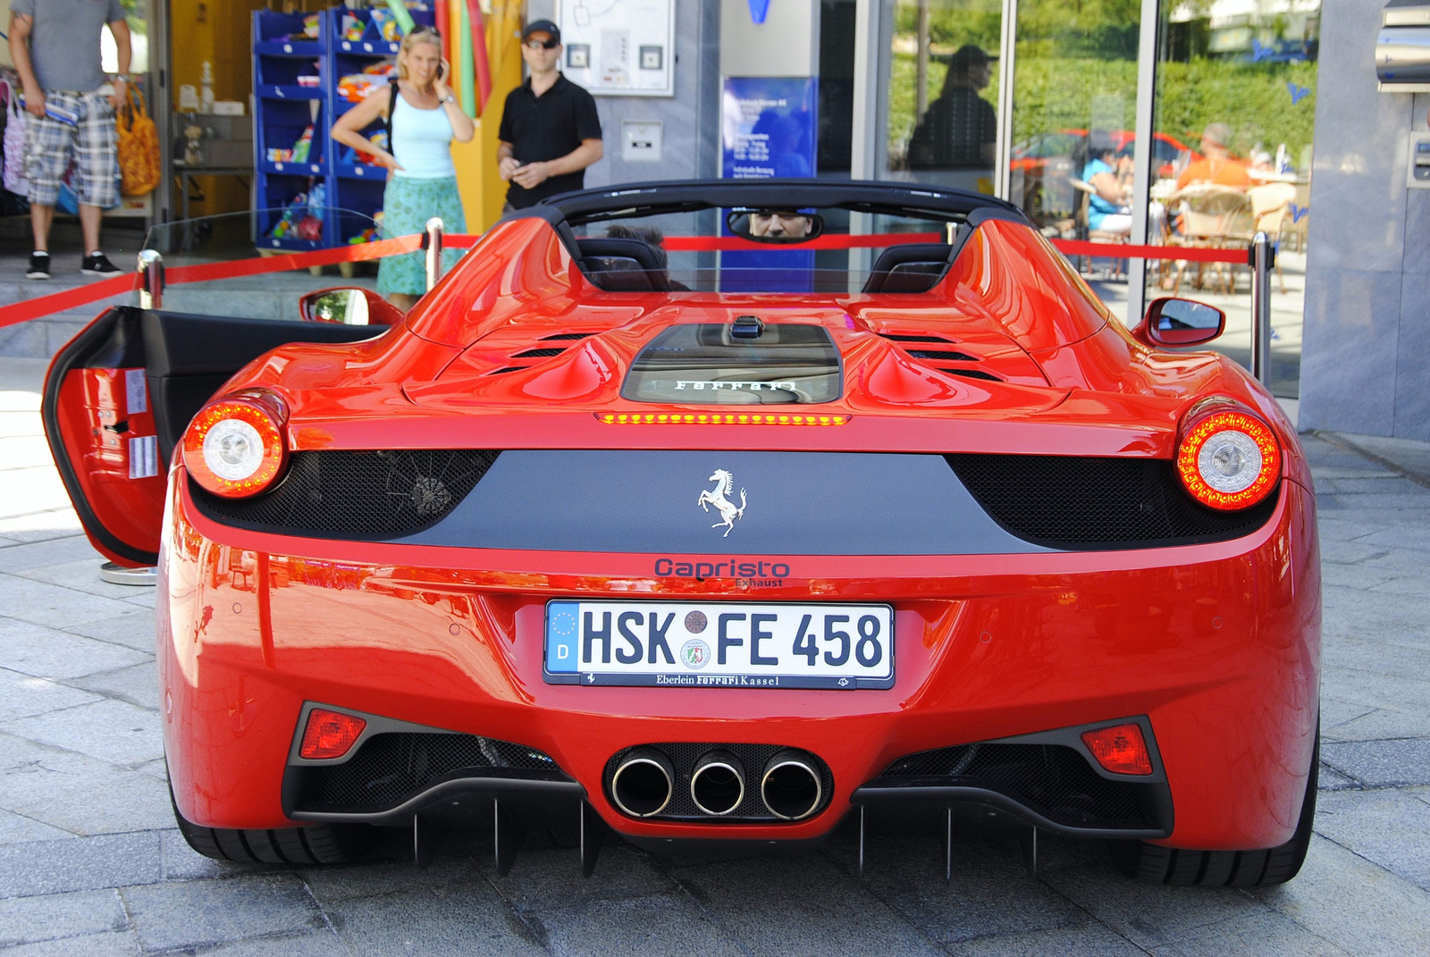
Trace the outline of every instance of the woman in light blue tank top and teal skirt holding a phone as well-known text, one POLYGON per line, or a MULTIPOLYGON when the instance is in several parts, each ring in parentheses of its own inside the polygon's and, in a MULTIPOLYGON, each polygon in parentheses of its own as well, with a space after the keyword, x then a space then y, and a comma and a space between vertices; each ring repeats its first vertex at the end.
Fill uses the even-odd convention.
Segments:
MULTIPOLYGON (((390 86, 373 90, 333 123, 335 142, 375 154, 389 170, 382 195, 383 239, 420 233, 432 216, 442 217, 446 232, 466 232, 452 140, 466 143, 476 127, 448 87, 448 72, 438 31, 418 27, 402 39, 398 76, 390 86), (390 130, 386 150, 362 134, 379 119, 390 130)), ((450 269, 456 257, 456 250, 446 250, 443 269, 450 269)), ((410 309, 426 288, 420 252, 379 262, 378 292, 399 309, 410 309)))

